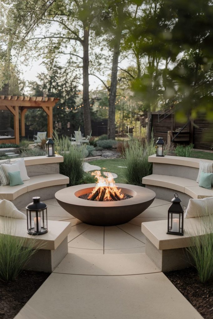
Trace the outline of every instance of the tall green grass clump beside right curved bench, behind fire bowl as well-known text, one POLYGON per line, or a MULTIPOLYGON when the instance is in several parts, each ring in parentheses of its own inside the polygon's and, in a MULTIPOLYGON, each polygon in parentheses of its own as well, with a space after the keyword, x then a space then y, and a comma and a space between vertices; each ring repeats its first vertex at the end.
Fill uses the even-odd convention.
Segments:
POLYGON ((147 139, 132 138, 125 147, 124 176, 126 181, 132 185, 144 186, 142 178, 152 174, 152 163, 148 157, 155 153, 155 139, 152 135, 150 141, 147 139))

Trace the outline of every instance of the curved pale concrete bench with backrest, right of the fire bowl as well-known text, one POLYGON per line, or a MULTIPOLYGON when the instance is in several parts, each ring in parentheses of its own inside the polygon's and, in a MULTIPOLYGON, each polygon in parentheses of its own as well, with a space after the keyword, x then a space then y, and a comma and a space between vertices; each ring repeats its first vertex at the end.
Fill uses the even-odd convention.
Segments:
POLYGON ((200 159, 151 155, 148 161, 153 162, 153 174, 143 177, 142 182, 156 193, 157 198, 170 201, 177 191, 183 205, 187 206, 190 198, 213 196, 213 188, 205 189, 196 182, 200 159))

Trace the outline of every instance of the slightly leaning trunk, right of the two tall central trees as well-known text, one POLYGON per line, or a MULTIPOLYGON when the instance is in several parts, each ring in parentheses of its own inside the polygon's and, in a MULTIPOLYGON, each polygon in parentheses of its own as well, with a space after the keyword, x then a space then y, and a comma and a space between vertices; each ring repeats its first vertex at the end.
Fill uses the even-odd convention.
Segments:
POLYGON ((112 72, 111 85, 109 96, 109 117, 108 117, 108 138, 115 139, 115 100, 117 91, 117 73, 118 73, 118 58, 121 41, 121 32, 115 38, 113 58, 112 58, 112 72))

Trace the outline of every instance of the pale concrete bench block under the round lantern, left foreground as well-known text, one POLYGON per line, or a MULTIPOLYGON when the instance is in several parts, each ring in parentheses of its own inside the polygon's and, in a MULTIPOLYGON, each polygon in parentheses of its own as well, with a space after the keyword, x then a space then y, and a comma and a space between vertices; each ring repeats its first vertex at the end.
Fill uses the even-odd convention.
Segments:
POLYGON ((31 256, 25 269, 52 272, 68 253, 67 236, 71 231, 71 223, 65 221, 48 220, 48 233, 40 236, 27 234, 27 220, 0 216, 1 233, 26 239, 26 245, 33 239, 34 248, 38 251, 31 256), (11 226, 8 226, 11 222, 11 226))

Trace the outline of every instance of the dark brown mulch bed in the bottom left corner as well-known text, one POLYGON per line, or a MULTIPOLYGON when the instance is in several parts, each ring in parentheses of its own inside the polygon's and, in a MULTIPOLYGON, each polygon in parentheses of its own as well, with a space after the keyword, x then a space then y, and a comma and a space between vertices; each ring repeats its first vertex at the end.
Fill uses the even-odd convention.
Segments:
POLYGON ((24 270, 14 281, 0 280, 0 319, 13 319, 49 275, 24 270))

